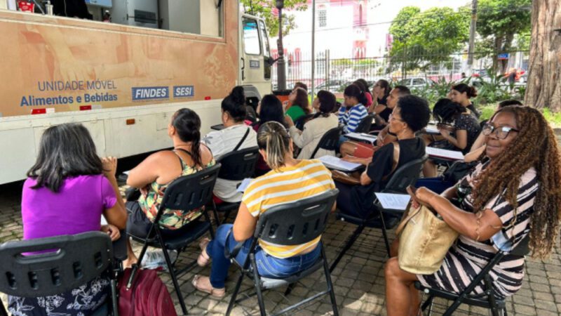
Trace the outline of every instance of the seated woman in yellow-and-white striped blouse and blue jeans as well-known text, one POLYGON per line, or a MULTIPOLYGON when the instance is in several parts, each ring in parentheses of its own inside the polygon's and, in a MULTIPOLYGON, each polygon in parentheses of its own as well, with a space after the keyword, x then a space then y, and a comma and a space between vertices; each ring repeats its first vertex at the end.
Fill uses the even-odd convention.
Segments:
MULTIPOLYGON (((259 128, 257 145, 271 171, 248 185, 234 225, 221 225, 214 240, 201 242, 198 265, 207 265, 212 258, 212 268, 210 277, 195 275, 192 284, 212 296, 222 297, 225 294, 224 282, 230 261, 224 256, 224 248, 231 250, 238 242, 244 242, 236 256, 236 261, 243 263, 250 251, 260 214, 273 206, 320 195, 335 187, 330 171, 319 160, 294 159, 292 140, 278 122, 269 121, 259 128)), ((259 241, 255 255, 259 275, 287 277, 309 268, 320 256, 319 241, 320 237, 306 244, 291 246, 259 241)))

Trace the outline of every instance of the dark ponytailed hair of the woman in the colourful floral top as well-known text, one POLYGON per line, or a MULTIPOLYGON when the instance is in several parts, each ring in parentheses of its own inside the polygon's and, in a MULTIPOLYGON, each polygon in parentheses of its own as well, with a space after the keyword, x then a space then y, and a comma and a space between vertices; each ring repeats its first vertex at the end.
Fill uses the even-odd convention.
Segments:
POLYGON ((172 126, 185 143, 191 142, 191 158, 195 166, 203 166, 201 157, 201 118, 195 111, 183 108, 173 114, 172 126))

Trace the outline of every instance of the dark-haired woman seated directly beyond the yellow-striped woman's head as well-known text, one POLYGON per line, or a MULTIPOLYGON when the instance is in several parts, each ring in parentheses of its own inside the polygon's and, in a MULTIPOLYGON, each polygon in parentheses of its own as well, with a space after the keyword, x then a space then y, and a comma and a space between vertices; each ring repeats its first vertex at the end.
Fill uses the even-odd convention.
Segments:
MULTIPOLYGON (((283 103, 280 103, 280 100, 278 100, 278 98, 273 94, 267 94, 261 99, 261 101, 259 101, 259 104, 257 105, 257 114, 259 114, 259 121, 252 125, 255 132, 259 131, 259 127, 268 121, 276 121, 285 125, 283 103)), ((255 176, 263 176, 270 170, 271 168, 267 166, 265 159, 263 159, 262 156, 259 156, 259 160, 257 160, 257 164, 255 164, 255 176)))

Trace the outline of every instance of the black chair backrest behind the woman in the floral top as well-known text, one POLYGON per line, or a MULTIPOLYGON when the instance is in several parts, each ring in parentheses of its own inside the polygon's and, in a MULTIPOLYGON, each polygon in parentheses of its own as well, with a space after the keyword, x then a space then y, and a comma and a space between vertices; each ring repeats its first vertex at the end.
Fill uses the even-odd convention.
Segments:
POLYGON ((212 199, 220 164, 215 164, 189 176, 181 176, 173 180, 165 189, 158 215, 154 222, 161 217, 164 209, 178 209, 188 211, 205 206, 212 199))

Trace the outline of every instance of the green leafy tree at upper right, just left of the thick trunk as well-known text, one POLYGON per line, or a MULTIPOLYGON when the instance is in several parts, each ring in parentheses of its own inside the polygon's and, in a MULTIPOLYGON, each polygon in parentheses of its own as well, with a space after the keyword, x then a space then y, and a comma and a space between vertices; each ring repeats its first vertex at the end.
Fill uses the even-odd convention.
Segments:
MULTIPOLYGON (((511 51, 516 34, 528 34, 532 0, 479 0, 477 32, 494 51, 493 69, 498 68, 497 55, 511 51)), ((526 41, 518 44, 529 46, 526 41)), ((520 48, 520 47, 519 47, 520 48)), ((506 60, 501 60, 501 73, 506 72, 506 60)))

